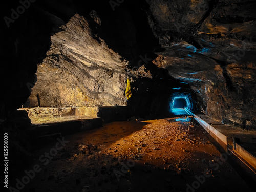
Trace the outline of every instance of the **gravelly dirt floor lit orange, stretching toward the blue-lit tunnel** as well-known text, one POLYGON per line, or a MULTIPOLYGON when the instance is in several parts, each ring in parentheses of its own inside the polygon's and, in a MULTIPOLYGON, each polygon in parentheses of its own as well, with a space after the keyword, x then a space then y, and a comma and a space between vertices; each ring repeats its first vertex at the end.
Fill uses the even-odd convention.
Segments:
POLYGON ((250 191, 191 121, 112 122, 66 136, 49 163, 35 160, 42 170, 24 191, 250 191))

